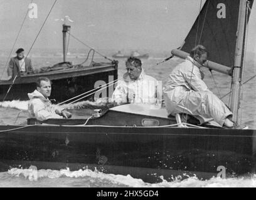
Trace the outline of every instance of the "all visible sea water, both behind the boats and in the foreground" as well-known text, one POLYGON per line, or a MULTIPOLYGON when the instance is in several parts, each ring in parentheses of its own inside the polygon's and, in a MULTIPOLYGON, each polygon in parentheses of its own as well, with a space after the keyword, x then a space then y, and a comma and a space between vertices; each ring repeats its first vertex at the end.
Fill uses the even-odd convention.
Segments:
MULTIPOLYGON (((161 56, 160 56, 161 57, 161 56)), ((1 57, 0 72, 4 70, 6 57, 1 57)), ((163 61, 164 57, 157 58, 152 56, 149 59, 142 59, 142 67, 146 74, 154 76, 159 81, 166 81, 168 74, 178 64, 178 61, 168 61, 163 64, 156 65, 163 61)), ((70 58, 73 64, 82 63, 83 59, 70 58)), ((33 63, 36 68, 42 66, 52 66, 61 62, 60 58, 35 58, 33 63)), ((251 78, 256 74, 254 68, 254 60, 247 58, 243 81, 251 78)), ((218 97, 222 97, 230 91, 231 78, 229 76, 213 72, 211 76, 208 69, 205 71, 205 83, 208 88, 213 91, 218 97)), ((125 61, 119 60, 119 78, 125 73, 125 61)), ((6 76, 6 75, 4 75, 6 76)), ((249 128, 256 129, 256 79, 243 85, 242 87, 242 103, 240 112, 240 123, 246 124, 249 128)), ((222 99, 225 104, 230 101, 230 96, 222 99)), ((16 101, 11 103, 13 108, 3 108, 0 106, 0 124, 26 124, 27 113, 19 113, 20 108, 26 107, 26 101, 16 101)), ((93 104, 88 103, 87 104, 93 104)), ((3 104, 3 103, 2 103, 3 104)), ((10 106, 9 106, 10 107, 10 106)), ((71 110, 73 115, 79 115, 78 110, 71 110)), ((144 183, 141 179, 132 178, 130 175, 122 176, 115 174, 104 174, 99 171, 90 171, 89 169, 80 169, 78 171, 70 171, 69 169, 61 169, 60 171, 50 169, 9 169, 9 171, 0 173, 0 187, 255 187, 256 174, 251 174, 242 178, 211 178, 210 180, 202 181, 195 177, 190 177, 181 181, 174 178, 168 182, 162 178, 161 183, 149 184, 144 183)))

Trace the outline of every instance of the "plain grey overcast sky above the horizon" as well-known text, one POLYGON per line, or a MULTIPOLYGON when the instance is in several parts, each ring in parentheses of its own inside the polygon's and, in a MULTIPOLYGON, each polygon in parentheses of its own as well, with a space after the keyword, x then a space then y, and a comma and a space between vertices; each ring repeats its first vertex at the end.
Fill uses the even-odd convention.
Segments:
MULTIPOLYGON (((11 49, 31 0, 0 0, 1 49, 11 49)), ((34 0, 38 18, 26 18, 17 47, 29 49, 54 0, 34 0)), ((58 0, 34 48, 60 48, 61 24, 70 16, 71 33, 97 49, 169 51, 182 44, 200 8, 200 0, 58 0)), ((255 49, 256 6, 252 10, 248 50, 255 49)), ((71 48, 84 46, 70 39, 71 48)))

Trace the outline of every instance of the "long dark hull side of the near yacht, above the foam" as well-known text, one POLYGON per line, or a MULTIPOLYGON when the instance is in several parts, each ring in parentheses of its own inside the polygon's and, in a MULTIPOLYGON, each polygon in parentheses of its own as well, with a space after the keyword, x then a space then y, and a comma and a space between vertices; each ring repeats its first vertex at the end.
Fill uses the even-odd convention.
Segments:
MULTIPOLYGON (((0 126, 13 128, 19 126, 0 126)), ((30 126, 1 132, 0 168, 96 167, 149 183, 184 173, 209 179, 218 167, 244 176, 255 171, 255 136, 253 130, 30 126)))

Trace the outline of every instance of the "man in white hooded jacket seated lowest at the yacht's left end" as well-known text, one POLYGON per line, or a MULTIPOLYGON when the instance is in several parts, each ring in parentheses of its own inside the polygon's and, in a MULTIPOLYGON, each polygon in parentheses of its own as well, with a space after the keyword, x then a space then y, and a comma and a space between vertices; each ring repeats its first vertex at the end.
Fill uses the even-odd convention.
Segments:
POLYGON ((36 118, 45 121, 51 118, 71 118, 72 114, 65 109, 58 108, 51 104, 48 97, 51 95, 51 81, 48 78, 40 77, 36 80, 36 89, 33 93, 28 93, 29 118, 36 118))

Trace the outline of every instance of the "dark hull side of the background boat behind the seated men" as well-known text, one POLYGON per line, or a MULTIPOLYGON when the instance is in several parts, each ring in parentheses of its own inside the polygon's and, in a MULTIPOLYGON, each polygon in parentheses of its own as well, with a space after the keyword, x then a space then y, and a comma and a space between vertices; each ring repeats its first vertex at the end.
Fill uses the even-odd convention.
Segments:
MULTIPOLYGON (((28 100, 28 93, 36 89, 36 78, 45 76, 51 79, 52 89, 50 99, 55 99, 56 103, 78 96, 95 88, 96 81, 109 83, 117 79, 117 66, 93 67, 67 73, 41 73, 30 76, 24 76, 15 81, 11 90, 6 96, 6 101, 28 100), (98 69, 97 69, 98 68, 98 69)), ((0 101, 3 101, 11 83, 0 82, 0 101)), ((94 96, 88 96, 87 99, 94 96)), ((85 99, 82 99, 82 101, 85 99)))

